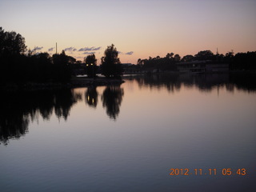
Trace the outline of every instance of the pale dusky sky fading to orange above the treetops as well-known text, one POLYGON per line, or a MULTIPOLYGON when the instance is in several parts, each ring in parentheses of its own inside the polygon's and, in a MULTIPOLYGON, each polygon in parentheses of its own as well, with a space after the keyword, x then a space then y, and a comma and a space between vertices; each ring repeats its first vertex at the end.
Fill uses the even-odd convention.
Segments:
POLYGON ((122 63, 167 53, 256 51, 255 0, 0 0, 0 26, 38 53, 66 50, 100 64, 114 44, 122 63))

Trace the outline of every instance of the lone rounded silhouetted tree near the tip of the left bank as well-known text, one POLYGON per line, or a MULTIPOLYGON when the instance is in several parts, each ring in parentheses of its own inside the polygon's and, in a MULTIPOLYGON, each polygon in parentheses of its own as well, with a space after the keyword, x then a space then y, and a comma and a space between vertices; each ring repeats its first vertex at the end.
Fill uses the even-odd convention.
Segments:
POLYGON ((104 54, 105 56, 102 57, 102 74, 107 78, 120 76, 123 70, 118 58, 118 50, 112 44, 107 46, 104 54))

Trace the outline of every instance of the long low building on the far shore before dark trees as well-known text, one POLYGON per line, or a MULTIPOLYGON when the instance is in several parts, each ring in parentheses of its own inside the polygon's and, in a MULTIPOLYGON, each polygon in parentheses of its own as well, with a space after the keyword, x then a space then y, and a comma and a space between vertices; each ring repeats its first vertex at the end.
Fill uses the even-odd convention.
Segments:
POLYGON ((177 64, 178 71, 182 73, 211 73, 229 71, 226 63, 212 63, 209 61, 180 62, 177 64))

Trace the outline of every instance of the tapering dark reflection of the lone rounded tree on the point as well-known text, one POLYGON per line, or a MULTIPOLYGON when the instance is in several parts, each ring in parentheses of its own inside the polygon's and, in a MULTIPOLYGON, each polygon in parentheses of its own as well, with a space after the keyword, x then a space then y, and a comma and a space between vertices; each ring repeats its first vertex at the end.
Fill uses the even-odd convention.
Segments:
POLYGON ((106 114, 116 119, 122 103, 124 92, 120 86, 107 86, 102 94, 102 105, 106 107, 106 114))

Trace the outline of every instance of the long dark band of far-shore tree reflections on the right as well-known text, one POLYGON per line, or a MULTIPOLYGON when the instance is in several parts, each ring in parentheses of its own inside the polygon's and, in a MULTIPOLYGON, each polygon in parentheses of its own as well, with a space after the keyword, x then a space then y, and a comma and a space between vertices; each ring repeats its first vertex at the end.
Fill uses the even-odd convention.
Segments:
POLYGON ((200 91, 211 91, 225 87, 228 91, 256 91, 256 75, 254 73, 231 74, 151 74, 126 77, 138 82, 139 87, 166 88, 169 92, 180 90, 181 86, 196 86, 200 91))

